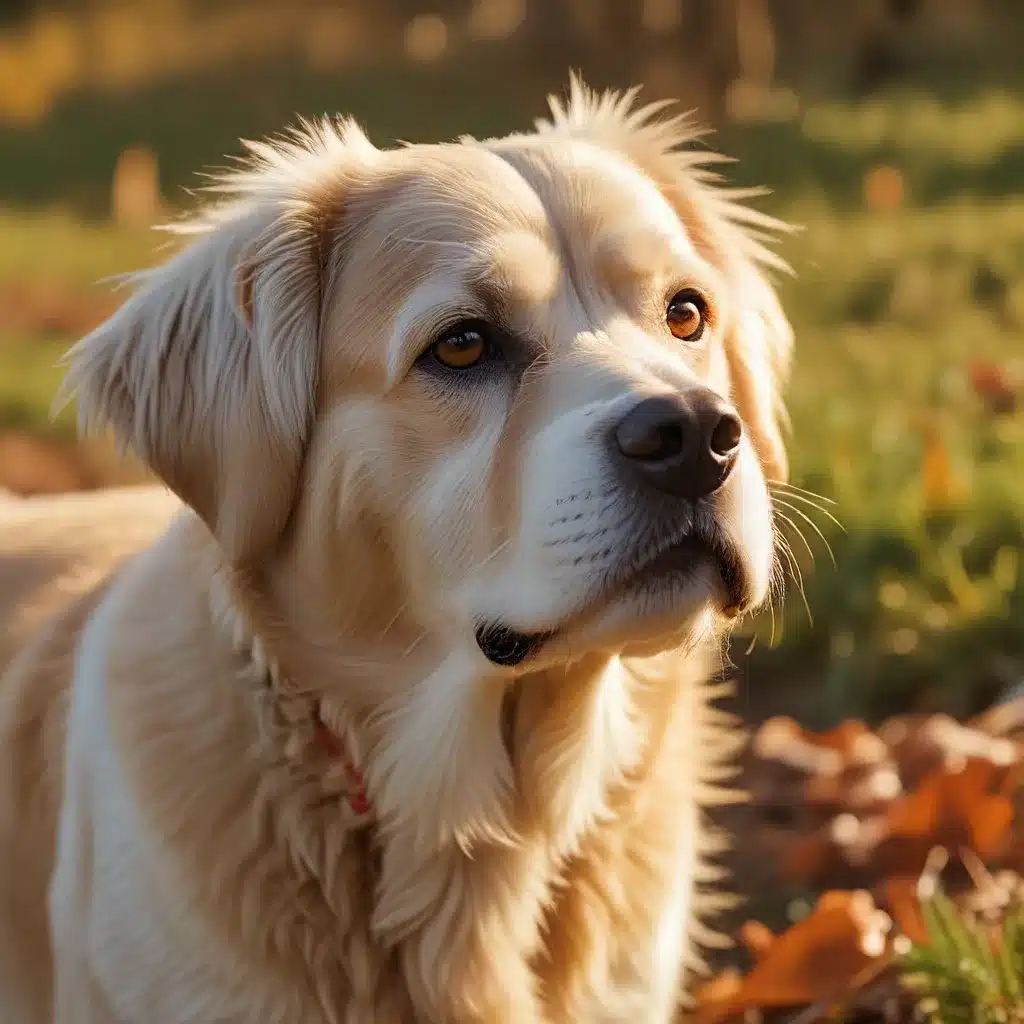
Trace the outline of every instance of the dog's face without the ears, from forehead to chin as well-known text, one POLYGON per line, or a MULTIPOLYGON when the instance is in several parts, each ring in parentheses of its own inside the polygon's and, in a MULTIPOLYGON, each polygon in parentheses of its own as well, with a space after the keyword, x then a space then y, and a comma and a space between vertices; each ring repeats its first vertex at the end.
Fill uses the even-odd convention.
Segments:
POLYGON ((385 524, 420 622, 517 665, 757 603, 739 296, 656 185, 571 138, 383 163, 349 195, 314 444, 335 470, 372 453, 342 500, 385 524))

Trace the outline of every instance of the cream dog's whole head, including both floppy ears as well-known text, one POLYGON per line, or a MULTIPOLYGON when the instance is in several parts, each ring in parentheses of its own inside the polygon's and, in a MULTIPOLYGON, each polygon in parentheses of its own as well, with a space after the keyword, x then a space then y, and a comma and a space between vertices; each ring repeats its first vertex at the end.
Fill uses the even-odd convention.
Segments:
POLYGON ((254 146, 74 349, 85 420, 322 637, 404 630, 502 674, 756 605, 778 225, 631 99, 573 83, 484 142, 379 151, 342 122, 254 146))

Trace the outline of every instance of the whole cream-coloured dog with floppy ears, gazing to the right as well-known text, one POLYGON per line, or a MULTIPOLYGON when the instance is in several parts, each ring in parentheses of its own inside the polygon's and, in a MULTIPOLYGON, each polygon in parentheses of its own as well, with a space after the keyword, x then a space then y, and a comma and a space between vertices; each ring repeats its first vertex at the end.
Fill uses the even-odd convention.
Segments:
POLYGON ((790 349, 691 138, 254 145, 71 352, 187 509, 0 506, 4 1024, 674 1017, 790 349))

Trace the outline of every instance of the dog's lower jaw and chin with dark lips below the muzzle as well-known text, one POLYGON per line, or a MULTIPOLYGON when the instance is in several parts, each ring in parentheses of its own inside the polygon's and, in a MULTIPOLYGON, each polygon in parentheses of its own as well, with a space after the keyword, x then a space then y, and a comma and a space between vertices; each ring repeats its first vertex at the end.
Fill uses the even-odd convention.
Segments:
POLYGON ((481 620, 476 643, 493 665, 540 669, 595 650, 650 656, 686 646, 753 603, 737 555, 684 540, 617 574, 596 596, 548 629, 481 620))

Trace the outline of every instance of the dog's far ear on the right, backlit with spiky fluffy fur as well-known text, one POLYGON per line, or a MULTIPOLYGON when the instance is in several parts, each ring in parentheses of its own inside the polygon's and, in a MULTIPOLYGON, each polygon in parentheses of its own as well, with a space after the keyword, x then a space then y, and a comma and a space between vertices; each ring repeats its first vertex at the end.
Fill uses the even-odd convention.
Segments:
POLYGON ((734 315, 725 339, 732 400, 746 425, 765 475, 785 479, 787 426, 783 388, 793 332, 767 271, 787 269, 768 243, 788 226, 744 204, 760 189, 726 188, 710 165, 717 154, 692 148, 701 132, 688 115, 660 117, 668 103, 635 104, 637 90, 595 93, 573 77, 567 100, 551 97, 550 121, 559 132, 611 148, 660 188, 697 251, 729 282, 734 315))

